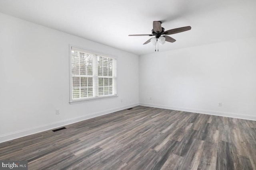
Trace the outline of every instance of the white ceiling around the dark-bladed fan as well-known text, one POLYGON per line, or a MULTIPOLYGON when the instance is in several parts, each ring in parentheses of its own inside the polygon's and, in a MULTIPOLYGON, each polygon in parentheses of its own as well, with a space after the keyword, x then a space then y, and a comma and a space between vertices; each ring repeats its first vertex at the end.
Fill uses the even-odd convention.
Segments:
POLYGON ((0 12, 137 55, 154 53, 152 21, 165 30, 190 25, 159 45, 169 51, 256 36, 256 0, 0 0, 0 12))

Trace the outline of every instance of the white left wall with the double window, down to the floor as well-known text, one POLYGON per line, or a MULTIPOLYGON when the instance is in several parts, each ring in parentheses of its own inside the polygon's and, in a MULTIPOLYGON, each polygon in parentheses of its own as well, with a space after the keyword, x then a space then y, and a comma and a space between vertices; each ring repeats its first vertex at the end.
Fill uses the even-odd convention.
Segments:
POLYGON ((1 13, 0 23, 0 142, 138 105, 137 55, 1 13), (118 98, 69 104, 69 44, 117 57, 118 98))

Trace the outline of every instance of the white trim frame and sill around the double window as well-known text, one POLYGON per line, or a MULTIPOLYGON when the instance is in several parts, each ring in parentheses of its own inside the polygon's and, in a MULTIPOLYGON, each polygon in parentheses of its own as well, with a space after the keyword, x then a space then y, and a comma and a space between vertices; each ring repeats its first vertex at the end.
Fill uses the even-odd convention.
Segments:
MULTIPOLYGON (((96 57, 97 58, 97 57, 96 57)), ((97 61, 94 61, 94 64, 97 62, 97 61)), ((118 74, 117 74, 117 62, 118 62, 118 59, 117 57, 113 56, 113 55, 109 55, 109 54, 105 54, 105 53, 101 53, 101 52, 97 52, 97 51, 93 51, 91 49, 85 49, 83 47, 78 47, 76 45, 69 45, 69 82, 70 82, 70 85, 69 85, 69 90, 70 90, 70 101, 69 103, 70 104, 76 104, 76 103, 83 103, 83 102, 91 102, 91 101, 95 101, 95 100, 105 100, 105 99, 110 99, 110 98, 117 98, 118 97, 118 86, 117 86, 117 82, 118 82, 118 74), (81 51, 85 52, 85 53, 90 53, 92 55, 97 55, 97 56, 101 56, 101 57, 108 57, 108 58, 112 58, 112 59, 115 59, 116 60, 116 76, 113 76, 113 77, 116 77, 116 93, 113 94, 113 95, 109 95, 109 96, 97 96, 97 97, 92 97, 92 98, 83 98, 83 99, 72 99, 72 47, 76 48, 76 49, 81 49, 81 51)), ((98 69, 98 65, 97 67, 96 66, 93 66, 93 70, 94 69, 98 69)), ((98 75, 94 75, 95 73, 93 73, 93 78, 98 76, 98 75)), ((102 76, 99 76, 99 77, 102 77, 102 76)), ((107 77, 106 77, 107 78, 107 77)), ((94 88, 94 86, 93 86, 94 88)))

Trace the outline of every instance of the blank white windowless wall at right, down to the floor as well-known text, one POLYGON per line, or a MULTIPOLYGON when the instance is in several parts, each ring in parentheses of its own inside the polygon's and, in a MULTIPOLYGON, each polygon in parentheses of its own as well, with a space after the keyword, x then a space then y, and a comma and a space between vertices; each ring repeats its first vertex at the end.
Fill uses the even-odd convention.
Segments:
POLYGON ((139 73, 141 105, 256 120, 255 37, 143 55, 139 73))

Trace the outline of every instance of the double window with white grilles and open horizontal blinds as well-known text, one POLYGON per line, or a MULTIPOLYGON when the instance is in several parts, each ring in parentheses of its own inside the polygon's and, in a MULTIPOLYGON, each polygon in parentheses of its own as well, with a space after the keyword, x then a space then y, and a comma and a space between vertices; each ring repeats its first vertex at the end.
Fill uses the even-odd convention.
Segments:
POLYGON ((117 96, 116 59, 71 47, 70 102, 117 96))

